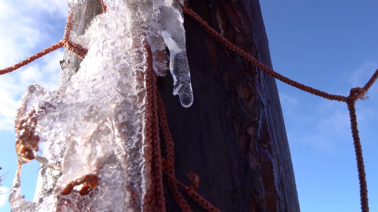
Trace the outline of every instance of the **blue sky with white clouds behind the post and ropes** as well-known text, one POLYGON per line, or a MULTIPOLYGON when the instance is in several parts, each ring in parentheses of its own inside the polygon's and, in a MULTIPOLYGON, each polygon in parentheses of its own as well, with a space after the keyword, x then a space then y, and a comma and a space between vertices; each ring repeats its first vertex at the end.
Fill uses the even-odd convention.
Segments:
MULTIPOLYGON (((286 77, 332 94, 349 95, 378 68, 378 2, 261 1, 273 68, 286 77)), ((13 65, 59 41, 64 32, 64 0, 0 0, 0 68, 13 65), (20 4, 21 3, 21 4, 20 4), (17 6, 16 6, 17 5, 17 6)), ((16 168, 14 114, 29 84, 56 88, 55 51, 13 73, 0 76, 0 191, 9 192, 16 168), (8 173, 7 173, 8 172, 8 173)), ((324 100, 277 81, 302 212, 359 211, 359 184, 349 113, 345 103, 324 100)), ((370 210, 378 211, 378 82, 370 98, 357 101, 370 210)), ((32 200, 39 164, 22 169, 22 194, 32 200)), ((8 194, 0 211, 9 211, 8 194)))

